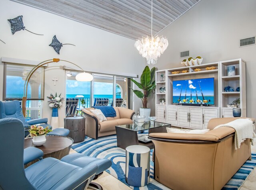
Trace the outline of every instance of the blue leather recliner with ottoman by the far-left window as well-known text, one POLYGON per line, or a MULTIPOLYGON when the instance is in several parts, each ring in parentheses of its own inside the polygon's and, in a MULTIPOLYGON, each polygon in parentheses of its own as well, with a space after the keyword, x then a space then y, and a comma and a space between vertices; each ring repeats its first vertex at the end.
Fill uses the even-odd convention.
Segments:
MULTIPOLYGON (((48 118, 42 118, 42 119, 33 119, 30 121, 26 121, 21 109, 20 109, 20 102, 18 100, 10 101, 10 102, 2 102, 0 101, 0 119, 4 118, 17 118, 22 121, 24 124, 24 130, 25 130, 25 137, 28 136, 28 128, 30 125, 37 125, 40 124, 42 127, 48 127, 49 129, 52 129, 52 126, 49 125, 48 118), (41 124, 45 123, 45 124, 41 124)), ((64 128, 58 128, 54 129, 52 132, 48 133, 47 135, 58 135, 58 136, 67 136, 69 134, 68 129, 64 128)))

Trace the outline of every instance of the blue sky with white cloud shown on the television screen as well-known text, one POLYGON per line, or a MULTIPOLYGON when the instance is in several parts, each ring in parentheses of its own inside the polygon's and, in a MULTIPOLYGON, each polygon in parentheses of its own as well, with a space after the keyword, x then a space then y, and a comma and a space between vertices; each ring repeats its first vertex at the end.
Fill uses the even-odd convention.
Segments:
POLYGON ((214 96, 214 78, 199 78, 191 80, 175 80, 172 82, 173 85, 173 96, 180 96, 180 90, 182 88, 181 95, 184 96, 187 86, 187 96, 190 96, 190 89, 192 91, 192 96, 196 96, 196 90, 198 96, 201 96, 201 90, 199 84, 202 88, 204 96, 214 96))

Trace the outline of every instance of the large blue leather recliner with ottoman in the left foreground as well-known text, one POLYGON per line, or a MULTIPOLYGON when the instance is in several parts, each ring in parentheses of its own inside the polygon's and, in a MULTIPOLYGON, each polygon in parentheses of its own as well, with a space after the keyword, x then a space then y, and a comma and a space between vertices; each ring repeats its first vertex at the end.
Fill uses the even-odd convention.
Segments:
POLYGON ((16 118, 0 119, 0 189, 3 190, 82 190, 111 166, 108 159, 71 154, 61 160, 42 159, 35 147, 24 149, 24 125, 16 118), (6 135, 8 134, 8 135, 6 135), (24 164, 38 162, 24 169, 24 164))

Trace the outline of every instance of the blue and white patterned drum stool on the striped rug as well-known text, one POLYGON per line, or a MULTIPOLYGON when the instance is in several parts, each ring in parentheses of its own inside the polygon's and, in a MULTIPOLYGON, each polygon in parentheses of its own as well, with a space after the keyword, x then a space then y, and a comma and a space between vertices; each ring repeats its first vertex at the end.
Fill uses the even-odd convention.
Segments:
POLYGON ((125 179, 134 187, 149 184, 150 149, 142 145, 126 147, 125 179))

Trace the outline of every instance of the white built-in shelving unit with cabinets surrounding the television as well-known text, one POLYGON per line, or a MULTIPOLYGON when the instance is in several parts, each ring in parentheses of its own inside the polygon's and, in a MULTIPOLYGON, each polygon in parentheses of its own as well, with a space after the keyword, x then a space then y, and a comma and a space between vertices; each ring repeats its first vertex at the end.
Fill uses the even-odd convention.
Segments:
POLYGON ((242 116, 246 117, 245 76, 245 61, 242 59, 156 71, 157 121, 184 128, 206 129, 208 121, 212 118, 233 117, 232 108, 227 108, 227 104, 231 104, 237 98, 240 98, 242 116), (235 66, 236 75, 228 76, 228 65, 235 66), (206 70, 206 67, 216 67, 216 69, 206 70), (195 71, 195 69, 201 69, 201 71, 195 71), (180 73, 172 74, 172 71, 180 71, 180 73), (187 72, 182 73, 182 71, 187 72), (163 80, 161 74, 164 74, 163 80), (214 105, 195 107, 173 104, 172 82, 174 80, 210 77, 214 77, 214 105), (231 86, 235 92, 225 92, 225 86, 231 86), (240 92, 236 92, 238 86, 240 86, 240 92), (161 87, 165 87, 166 92, 160 92, 161 87), (159 99, 161 98, 166 100, 165 104, 160 104, 159 99))

